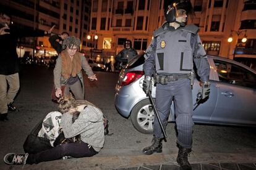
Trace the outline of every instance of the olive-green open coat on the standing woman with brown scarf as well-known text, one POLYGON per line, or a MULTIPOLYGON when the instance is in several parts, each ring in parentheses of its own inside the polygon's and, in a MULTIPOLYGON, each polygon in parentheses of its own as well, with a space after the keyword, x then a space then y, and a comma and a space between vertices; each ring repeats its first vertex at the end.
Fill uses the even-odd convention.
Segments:
MULTIPOLYGON (((90 65, 88 64, 87 60, 85 59, 85 57, 83 55, 81 55, 81 61, 82 61, 82 69, 85 71, 85 73, 88 75, 88 77, 93 76, 94 73, 92 71, 92 68, 90 67, 90 65)), ((56 60, 55 68, 53 70, 55 89, 61 88, 62 85, 65 85, 67 83, 67 79, 64 78, 61 75, 61 73, 62 73, 62 61, 61 61, 61 56, 59 55, 58 59, 56 60)), ((81 86, 83 89, 83 94, 85 94, 82 70, 80 71, 80 73, 77 74, 77 76, 79 76, 80 83, 81 83, 81 86)))

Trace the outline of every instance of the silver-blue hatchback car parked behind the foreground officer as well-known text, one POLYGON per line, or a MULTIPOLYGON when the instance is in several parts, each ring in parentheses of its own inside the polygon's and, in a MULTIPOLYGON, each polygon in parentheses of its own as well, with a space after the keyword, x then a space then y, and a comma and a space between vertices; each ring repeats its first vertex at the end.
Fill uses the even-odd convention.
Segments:
MULTIPOLYGON (((153 132, 154 112, 142 89, 143 55, 137 55, 121 70, 116 84, 114 103, 124 117, 130 116, 135 129, 153 132)), ((234 60, 208 55, 210 64, 210 96, 197 105, 199 81, 195 74, 192 89, 195 123, 256 126, 256 71, 234 60)), ((155 97, 155 86, 152 89, 155 97)), ((171 105, 168 121, 175 120, 171 105)))

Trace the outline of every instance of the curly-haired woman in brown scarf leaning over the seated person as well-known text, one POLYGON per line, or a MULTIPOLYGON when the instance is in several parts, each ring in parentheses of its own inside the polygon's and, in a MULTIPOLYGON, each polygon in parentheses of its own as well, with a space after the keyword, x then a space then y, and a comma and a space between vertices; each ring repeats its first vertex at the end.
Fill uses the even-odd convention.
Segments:
POLYGON ((59 54, 53 70, 56 97, 69 95, 71 91, 75 100, 84 99, 82 69, 90 81, 98 80, 85 57, 79 52, 80 43, 80 39, 74 36, 69 36, 62 42, 64 50, 59 54), (62 86, 65 86, 64 93, 61 90, 62 86))

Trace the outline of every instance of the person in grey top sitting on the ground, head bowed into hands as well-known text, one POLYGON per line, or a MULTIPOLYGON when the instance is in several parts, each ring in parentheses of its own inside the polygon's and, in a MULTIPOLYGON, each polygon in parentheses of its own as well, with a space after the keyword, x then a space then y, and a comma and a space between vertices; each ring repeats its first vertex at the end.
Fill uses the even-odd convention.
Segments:
POLYGON ((71 138, 79 135, 77 142, 62 143, 35 154, 7 153, 4 156, 4 162, 9 165, 37 164, 58 160, 64 156, 89 157, 100 152, 105 142, 102 111, 90 103, 76 104, 70 96, 59 99, 59 111, 62 113, 61 127, 64 137, 71 138), (73 115, 77 112, 80 112, 79 116, 73 122, 73 115))

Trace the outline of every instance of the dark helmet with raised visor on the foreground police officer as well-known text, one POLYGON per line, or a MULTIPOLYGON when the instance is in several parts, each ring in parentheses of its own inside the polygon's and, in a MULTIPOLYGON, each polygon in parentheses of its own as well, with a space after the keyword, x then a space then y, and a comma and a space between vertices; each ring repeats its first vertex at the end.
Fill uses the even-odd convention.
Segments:
POLYGON ((176 22, 176 13, 178 9, 186 10, 187 15, 193 13, 193 7, 190 0, 164 1, 164 16, 167 22, 176 22))

